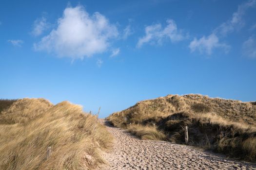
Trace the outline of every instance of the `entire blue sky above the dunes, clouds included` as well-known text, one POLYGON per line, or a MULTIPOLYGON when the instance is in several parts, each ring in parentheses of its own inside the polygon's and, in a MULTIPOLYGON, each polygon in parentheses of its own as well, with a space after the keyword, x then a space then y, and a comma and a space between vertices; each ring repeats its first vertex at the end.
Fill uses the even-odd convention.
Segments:
POLYGON ((1 0, 0 98, 100 117, 167 94, 256 100, 256 0, 1 0))

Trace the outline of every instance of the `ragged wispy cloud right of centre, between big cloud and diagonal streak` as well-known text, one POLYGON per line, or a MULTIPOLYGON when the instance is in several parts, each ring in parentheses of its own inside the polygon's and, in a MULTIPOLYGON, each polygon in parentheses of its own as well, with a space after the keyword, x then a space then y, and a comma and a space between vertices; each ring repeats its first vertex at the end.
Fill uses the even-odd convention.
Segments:
POLYGON ((145 28, 145 36, 139 38, 137 47, 140 48, 145 43, 161 44, 164 38, 169 38, 172 42, 184 39, 184 35, 178 31, 174 20, 167 19, 167 26, 162 29, 161 24, 154 24, 145 28))

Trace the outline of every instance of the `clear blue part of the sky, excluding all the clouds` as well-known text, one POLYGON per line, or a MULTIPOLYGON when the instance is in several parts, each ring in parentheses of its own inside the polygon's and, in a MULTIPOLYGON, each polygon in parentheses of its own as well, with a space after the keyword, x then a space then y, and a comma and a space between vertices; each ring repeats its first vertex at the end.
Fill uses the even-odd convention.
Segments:
MULTIPOLYGON (((1 0, 0 98, 45 98, 53 103, 70 101, 100 117, 136 102, 167 94, 199 93, 241 101, 256 101, 256 58, 246 56, 243 43, 256 36, 256 7, 248 8, 243 26, 219 37, 230 49, 214 48, 210 55, 191 51, 194 38, 207 37, 232 18, 241 0, 1 0), (33 44, 58 27, 67 6, 81 5, 92 15, 99 12, 118 29, 127 25, 132 34, 115 38, 109 49, 83 60, 35 51, 33 44), (31 34, 33 23, 45 16, 51 24, 40 36, 31 34), (166 26, 173 19, 187 34, 184 40, 145 43, 138 48, 145 27, 166 26), (22 40, 13 46, 8 40, 22 40), (115 57, 111 49, 119 48, 115 57), (101 67, 97 60, 103 61, 101 67)), ((256 47, 255 47, 256 49, 256 47)))

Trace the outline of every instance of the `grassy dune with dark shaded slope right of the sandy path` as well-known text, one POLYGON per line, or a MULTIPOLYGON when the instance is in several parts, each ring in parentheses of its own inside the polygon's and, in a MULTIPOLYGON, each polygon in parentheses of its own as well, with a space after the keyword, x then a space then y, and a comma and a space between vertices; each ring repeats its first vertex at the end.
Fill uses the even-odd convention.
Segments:
POLYGON ((188 126, 189 145, 256 161, 256 102, 168 95, 138 102, 107 119, 142 139, 182 144, 188 126))

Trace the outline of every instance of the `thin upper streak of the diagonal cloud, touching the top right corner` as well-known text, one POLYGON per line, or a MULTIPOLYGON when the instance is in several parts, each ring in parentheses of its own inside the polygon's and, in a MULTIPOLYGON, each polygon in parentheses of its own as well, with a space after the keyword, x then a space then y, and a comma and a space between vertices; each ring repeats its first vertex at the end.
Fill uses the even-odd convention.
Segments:
POLYGON ((244 25, 243 16, 248 8, 256 6, 256 0, 249 0, 238 6, 238 9, 233 13, 232 18, 222 23, 215 30, 215 34, 227 35, 236 29, 240 29, 244 25))

